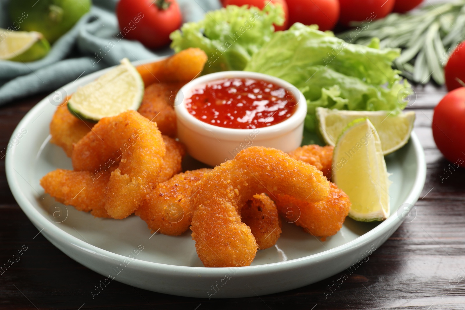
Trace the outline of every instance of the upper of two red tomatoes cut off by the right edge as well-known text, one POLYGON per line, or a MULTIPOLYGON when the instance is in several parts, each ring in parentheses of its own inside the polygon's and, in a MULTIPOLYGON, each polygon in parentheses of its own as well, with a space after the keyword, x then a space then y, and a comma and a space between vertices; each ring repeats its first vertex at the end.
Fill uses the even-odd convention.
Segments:
POLYGON ((449 60, 447 60, 444 75, 447 90, 452 91, 463 86, 458 82, 458 79, 465 82, 465 41, 455 48, 449 60))

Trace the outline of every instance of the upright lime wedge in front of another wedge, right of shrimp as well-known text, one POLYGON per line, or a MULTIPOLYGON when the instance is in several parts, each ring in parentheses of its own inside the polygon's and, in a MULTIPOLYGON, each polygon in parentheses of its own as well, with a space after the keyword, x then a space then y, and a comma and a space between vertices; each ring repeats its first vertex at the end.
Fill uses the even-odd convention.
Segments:
POLYGON ((349 196, 351 218, 372 222, 389 216, 388 177, 373 124, 369 119, 349 123, 334 147, 332 181, 349 196))

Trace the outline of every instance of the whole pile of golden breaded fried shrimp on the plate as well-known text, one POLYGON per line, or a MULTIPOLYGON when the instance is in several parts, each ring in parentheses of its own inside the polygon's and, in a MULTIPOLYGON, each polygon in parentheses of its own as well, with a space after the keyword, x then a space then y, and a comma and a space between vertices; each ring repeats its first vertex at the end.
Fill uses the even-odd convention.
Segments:
POLYGON ((336 234, 351 203, 328 181, 332 146, 288 154, 251 146, 213 169, 181 172, 186 148, 175 140, 174 99, 206 61, 204 51, 187 48, 138 66, 146 86, 138 111, 96 124, 73 115, 66 102, 59 106, 50 142, 63 148, 73 170, 47 173, 40 179, 45 192, 94 217, 135 213, 152 232, 178 236, 190 227, 206 267, 249 266, 258 250, 276 244, 281 220, 316 237, 336 234))

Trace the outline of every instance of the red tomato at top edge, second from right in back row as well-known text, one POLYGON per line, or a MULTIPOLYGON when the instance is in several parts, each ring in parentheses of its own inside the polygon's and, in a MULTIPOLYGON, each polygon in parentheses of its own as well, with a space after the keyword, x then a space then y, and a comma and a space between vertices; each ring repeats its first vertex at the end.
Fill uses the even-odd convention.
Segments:
POLYGON ((391 13, 395 0, 339 0, 339 3, 341 4, 339 22, 344 26, 350 26, 351 21, 370 22, 385 17, 391 13))

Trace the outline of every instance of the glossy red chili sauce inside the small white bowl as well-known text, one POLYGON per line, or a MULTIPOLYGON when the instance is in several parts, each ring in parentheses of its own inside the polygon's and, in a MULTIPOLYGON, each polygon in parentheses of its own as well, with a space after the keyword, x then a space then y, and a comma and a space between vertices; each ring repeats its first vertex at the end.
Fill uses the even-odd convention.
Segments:
POLYGON ((297 110, 290 91, 256 79, 219 79, 198 86, 186 99, 186 108, 207 124, 237 129, 278 124, 297 110))

